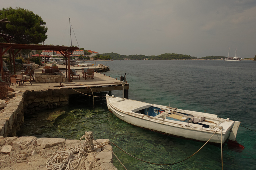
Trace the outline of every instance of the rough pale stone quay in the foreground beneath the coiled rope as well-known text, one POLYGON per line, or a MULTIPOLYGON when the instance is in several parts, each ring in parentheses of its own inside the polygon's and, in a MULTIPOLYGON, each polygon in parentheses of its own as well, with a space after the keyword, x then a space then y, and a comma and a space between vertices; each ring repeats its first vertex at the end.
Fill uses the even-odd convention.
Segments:
MULTIPOLYGON (((99 143, 108 139, 96 140, 99 143)), ((0 136, 0 170, 46 170, 46 162, 57 151, 84 144, 85 140, 65 140, 61 138, 2 137, 0 136)), ((97 144, 93 141, 93 144, 97 144)), ((87 152, 76 169, 117 170, 112 164, 113 154, 110 144, 87 152), (110 150, 110 151, 109 151, 110 150)))

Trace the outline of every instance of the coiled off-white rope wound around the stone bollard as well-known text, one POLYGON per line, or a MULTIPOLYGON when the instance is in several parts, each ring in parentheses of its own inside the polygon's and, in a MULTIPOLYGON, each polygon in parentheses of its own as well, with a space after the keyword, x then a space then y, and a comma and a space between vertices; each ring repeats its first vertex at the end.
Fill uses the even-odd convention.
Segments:
MULTIPOLYGON (((85 132, 84 135, 80 138, 80 141, 85 138, 85 140, 89 143, 91 140, 93 140, 93 137, 91 139, 90 134, 88 132, 85 132), (86 137, 86 134, 88 137, 86 137)), ((93 145, 89 146, 86 144, 80 144, 76 147, 71 147, 67 151, 57 151, 54 152, 46 162, 46 169, 51 170, 73 170, 75 169, 83 155, 87 155, 87 152, 92 152, 109 142, 103 142, 98 144, 96 147, 93 147, 93 145), (75 164, 75 165, 74 165, 75 164)))

